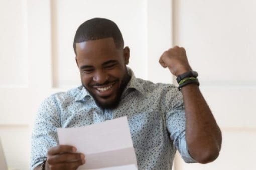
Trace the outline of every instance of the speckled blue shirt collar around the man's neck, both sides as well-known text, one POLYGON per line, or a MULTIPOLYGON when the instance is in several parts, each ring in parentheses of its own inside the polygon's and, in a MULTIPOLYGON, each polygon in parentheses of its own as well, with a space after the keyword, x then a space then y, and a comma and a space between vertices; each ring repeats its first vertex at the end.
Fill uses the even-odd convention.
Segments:
MULTIPOLYGON (((129 73, 129 75, 131 75, 131 79, 127 83, 123 92, 126 91, 127 89, 134 88, 134 89, 138 90, 140 93, 144 94, 143 85, 138 82, 138 79, 134 75, 134 71, 129 67, 127 67, 127 71, 129 73)), ((91 97, 91 94, 87 91, 87 89, 83 85, 79 86, 78 91, 77 91, 77 95, 75 96, 75 100, 76 101, 83 100, 86 96, 91 97)))

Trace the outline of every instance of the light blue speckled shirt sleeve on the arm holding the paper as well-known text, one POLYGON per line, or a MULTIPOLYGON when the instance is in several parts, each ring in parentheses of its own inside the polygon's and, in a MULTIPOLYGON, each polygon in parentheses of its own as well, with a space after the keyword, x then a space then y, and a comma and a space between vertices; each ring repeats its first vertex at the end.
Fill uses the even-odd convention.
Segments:
POLYGON ((35 119, 30 169, 34 169, 46 160, 48 149, 57 145, 57 127, 60 126, 58 104, 52 95, 42 102, 35 119))

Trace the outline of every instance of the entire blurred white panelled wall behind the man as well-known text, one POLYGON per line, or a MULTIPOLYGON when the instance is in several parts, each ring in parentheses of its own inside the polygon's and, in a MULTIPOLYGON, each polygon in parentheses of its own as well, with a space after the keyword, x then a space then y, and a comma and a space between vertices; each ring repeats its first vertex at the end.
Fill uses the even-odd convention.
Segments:
POLYGON ((131 48, 135 75, 175 83, 158 63, 186 48, 221 127, 222 150, 208 164, 175 170, 255 169, 255 0, 0 0, 0 137, 10 167, 29 169, 31 130, 42 100, 80 85, 73 37, 92 17, 112 19, 131 48))

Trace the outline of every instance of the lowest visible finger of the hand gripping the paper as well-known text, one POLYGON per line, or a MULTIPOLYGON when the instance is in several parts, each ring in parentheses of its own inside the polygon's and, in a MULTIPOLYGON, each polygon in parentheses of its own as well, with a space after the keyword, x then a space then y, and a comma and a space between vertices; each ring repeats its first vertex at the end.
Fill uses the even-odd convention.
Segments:
POLYGON ((79 161, 72 161, 72 162, 65 162, 65 163, 59 163, 59 164, 50 164, 50 169, 60 169, 60 170, 72 170, 77 169, 78 166, 85 163, 85 160, 79 160, 79 161))

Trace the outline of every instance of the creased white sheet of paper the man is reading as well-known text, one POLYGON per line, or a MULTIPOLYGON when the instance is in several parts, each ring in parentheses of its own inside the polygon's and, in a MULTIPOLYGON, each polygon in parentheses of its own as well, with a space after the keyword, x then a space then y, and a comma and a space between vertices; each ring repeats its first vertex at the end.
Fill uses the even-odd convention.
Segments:
POLYGON ((135 164, 137 169, 136 154, 126 116, 83 127, 58 128, 57 132, 60 144, 73 145, 77 152, 85 154, 86 163, 80 166, 79 170, 105 170, 106 167, 110 170, 118 166, 118 169, 127 169, 131 164, 135 164))

